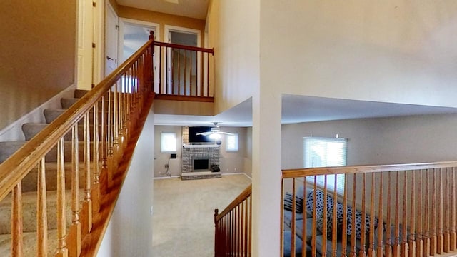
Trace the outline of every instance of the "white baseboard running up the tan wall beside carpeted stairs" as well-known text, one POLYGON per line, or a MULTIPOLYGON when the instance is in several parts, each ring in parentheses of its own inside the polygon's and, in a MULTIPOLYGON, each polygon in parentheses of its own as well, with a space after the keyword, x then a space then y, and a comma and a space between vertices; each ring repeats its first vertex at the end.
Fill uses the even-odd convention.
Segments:
POLYGON ((22 133, 22 124, 28 122, 37 122, 37 123, 46 123, 44 119, 43 111, 44 109, 56 108, 61 109, 60 99, 62 97, 74 97, 74 90, 76 85, 71 85, 61 91, 59 94, 56 94, 48 101, 44 102, 40 106, 36 107, 33 111, 30 111, 28 114, 22 116, 18 120, 14 121, 6 128, 0 130, 0 142, 6 141, 24 141, 24 133, 22 133))

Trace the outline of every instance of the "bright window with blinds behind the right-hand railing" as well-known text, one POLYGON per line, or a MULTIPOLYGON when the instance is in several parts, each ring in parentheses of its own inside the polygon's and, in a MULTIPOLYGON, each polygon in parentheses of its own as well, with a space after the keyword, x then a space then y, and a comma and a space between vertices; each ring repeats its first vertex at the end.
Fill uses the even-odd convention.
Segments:
MULTIPOLYGON (((345 138, 303 138, 303 166, 305 168, 346 166, 346 139, 345 138)), ((308 177, 313 183, 313 178, 308 177)), ((317 176, 317 185, 323 186, 325 176, 317 176)), ((344 174, 336 175, 336 191, 344 191, 344 174)), ((335 189, 335 176, 327 176, 327 188, 335 189)))

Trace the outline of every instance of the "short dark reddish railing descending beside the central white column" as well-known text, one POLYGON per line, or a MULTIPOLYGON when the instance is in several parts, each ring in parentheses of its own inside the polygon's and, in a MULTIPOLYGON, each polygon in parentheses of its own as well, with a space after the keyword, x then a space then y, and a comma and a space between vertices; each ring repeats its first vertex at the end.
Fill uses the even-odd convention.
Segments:
POLYGON ((214 253, 219 256, 251 256, 252 186, 248 186, 221 213, 214 210, 214 253))

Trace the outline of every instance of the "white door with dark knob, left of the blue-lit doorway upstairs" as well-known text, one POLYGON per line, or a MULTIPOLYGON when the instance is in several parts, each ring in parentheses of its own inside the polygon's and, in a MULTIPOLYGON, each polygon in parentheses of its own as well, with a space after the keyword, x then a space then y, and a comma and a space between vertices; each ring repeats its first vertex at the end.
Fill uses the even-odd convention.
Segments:
POLYGON ((108 4, 106 8, 106 40, 105 40, 105 76, 111 74, 117 68, 117 45, 118 45, 118 16, 113 7, 108 4))

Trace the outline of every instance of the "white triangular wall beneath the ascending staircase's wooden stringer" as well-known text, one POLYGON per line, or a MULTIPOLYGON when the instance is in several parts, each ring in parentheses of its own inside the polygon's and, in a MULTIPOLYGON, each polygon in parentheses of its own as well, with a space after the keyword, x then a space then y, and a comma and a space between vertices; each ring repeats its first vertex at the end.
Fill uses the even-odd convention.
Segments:
POLYGON ((154 256, 154 113, 144 124, 98 256, 154 256))

